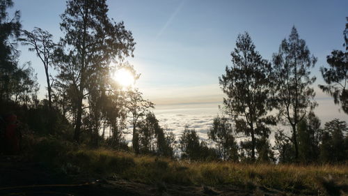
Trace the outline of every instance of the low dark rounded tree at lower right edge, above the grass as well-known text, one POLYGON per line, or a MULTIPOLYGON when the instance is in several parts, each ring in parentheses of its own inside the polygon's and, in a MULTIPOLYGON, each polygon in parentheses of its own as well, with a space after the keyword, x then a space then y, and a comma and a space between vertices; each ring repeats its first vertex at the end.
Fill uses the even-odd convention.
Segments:
POLYGON ((348 160, 347 133, 348 124, 345 121, 333 119, 325 123, 320 144, 320 160, 323 163, 344 163, 348 160))

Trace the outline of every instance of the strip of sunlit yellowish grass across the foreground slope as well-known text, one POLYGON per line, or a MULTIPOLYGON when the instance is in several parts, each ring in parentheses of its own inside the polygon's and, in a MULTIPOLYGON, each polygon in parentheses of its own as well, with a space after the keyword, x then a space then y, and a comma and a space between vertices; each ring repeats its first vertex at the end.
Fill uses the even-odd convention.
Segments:
POLYGON ((185 186, 262 187, 306 195, 318 195, 348 184, 348 165, 187 163, 107 149, 87 149, 54 139, 40 139, 33 146, 35 160, 65 174, 95 178, 113 176, 141 183, 185 186))

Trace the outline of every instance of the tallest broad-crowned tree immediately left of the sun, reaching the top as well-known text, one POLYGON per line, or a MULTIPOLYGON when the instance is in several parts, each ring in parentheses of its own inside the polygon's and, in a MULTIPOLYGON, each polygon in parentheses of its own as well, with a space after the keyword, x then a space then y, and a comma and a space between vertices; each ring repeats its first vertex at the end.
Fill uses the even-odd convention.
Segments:
MULTIPOLYGON (((133 56, 134 39, 123 22, 113 22, 107 16, 105 0, 69 0, 61 15, 61 30, 65 32, 62 44, 67 54, 58 68, 61 77, 70 81, 76 98, 77 114, 74 122, 74 140, 79 141, 83 101, 88 95, 90 76, 109 67, 111 61, 133 56)), ((62 53, 61 53, 62 54, 62 53)), ((63 55, 61 55, 63 56, 63 55)))

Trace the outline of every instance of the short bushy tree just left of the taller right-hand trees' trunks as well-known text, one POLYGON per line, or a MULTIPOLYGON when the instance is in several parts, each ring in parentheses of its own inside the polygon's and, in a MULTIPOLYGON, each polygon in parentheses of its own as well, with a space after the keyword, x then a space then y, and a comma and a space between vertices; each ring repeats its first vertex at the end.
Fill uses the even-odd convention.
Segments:
POLYGON ((226 117, 214 118, 213 127, 207 135, 216 143, 219 158, 221 160, 238 161, 238 148, 235 137, 232 135, 232 124, 226 117))

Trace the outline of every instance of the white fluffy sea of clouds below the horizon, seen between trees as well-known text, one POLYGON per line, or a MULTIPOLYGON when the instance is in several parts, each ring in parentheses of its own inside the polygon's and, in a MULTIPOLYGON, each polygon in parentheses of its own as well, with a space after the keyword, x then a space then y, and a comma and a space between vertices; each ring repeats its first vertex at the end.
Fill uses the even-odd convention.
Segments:
MULTIPOLYGON (((347 114, 339 112, 339 106, 334 105, 331 98, 317 98, 319 106, 315 109, 315 114, 321 119, 322 126, 327 121, 331 121, 334 118, 338 118, 343 121, 347 121, 347 114)), ((200 140, 205 140, 208 143, 207 132, 212 128, 213 120, 216 116, 220 115, 222 111, 219 109, 221 103, 187 103, 187 104, 175 104, 175 105, 157 105, 153 110, 156 118, 159 121, 159 125, 164 128, 165 131, 172 131, 175 134, 177 140, 184 132, 184 128, 196 130, 200 140)), ((129 129, 132 129, 129 127, 129 129)), ((269 142, 274 145, 274 133, 276 130, 285 130, 287 135, 291 135, 290 126, 278 124, 278 126, 271 127, 271 135, 269 136, 269 142)), ((236 135, 237 142, 245 140, 245 137, 239 138, 241 135, 236 135)), ((132 135, 125 135, 127 142, 132 141, 132 135)))

